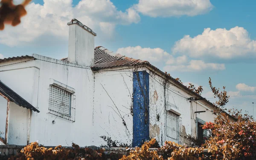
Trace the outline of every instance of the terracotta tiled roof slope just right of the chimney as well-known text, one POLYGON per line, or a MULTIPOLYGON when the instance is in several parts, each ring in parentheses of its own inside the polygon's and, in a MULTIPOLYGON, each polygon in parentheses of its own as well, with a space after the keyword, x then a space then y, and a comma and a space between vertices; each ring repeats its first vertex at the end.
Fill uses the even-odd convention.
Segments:
MULTIPOLYGON (((94 66, 93 69, 103 69, 111 67, 134 66, 139 64, 149 64, 148 61, 129 58, 124 55, 111 55, 111 51, 99 46, 94 49, 94 66)), ((68 62, 67 58, 62 58, 61 61, 68 62)))

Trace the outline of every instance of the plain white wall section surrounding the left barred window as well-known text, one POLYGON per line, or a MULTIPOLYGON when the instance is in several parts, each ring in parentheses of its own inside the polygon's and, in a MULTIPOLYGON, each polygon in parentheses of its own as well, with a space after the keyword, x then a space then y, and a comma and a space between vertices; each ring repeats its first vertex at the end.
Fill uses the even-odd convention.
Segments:
MULTIPOLYGON (((34 55, 38 59, 64 62, 34 55)), ((92 131, 92 104, 93 104, 93 73, 83 68, 69 67, 44 61, 38 61, 40 68, 38 110, 40 113, 32 113, 30 141, 39 140, 44 145, 78 145, 91 144, 92 131), (54 79, 76 90, 75 107, 76 122, 56 117, 48 111, 50 79, 54 79), (55 119, 56 118, 56 119, 55 119), (55 124, 52 120, 55 119, 55 124)), ((77 66, 77 65, 76 65, 77 66)))

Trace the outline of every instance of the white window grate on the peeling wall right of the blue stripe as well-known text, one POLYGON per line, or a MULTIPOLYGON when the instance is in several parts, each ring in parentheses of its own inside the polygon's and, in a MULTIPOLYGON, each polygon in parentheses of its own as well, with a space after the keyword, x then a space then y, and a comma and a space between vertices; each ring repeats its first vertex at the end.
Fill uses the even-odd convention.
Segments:
POLYGON ((171 141, 179 143, 180 137, 180 118, 177 114, 167 111, 166 114, 166 131, 167 137, 171 138, 171 141))

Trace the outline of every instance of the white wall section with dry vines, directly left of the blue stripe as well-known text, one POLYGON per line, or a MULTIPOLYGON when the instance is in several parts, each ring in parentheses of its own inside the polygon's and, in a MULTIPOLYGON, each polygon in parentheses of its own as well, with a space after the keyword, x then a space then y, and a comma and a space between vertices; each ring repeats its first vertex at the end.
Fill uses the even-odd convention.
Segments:
POLYGON ((103 71, 95 73, 93 100, 94 145, 105 144, 99 138, 100 136, 111 137, 112 140, 122 143, 132 143, 132 93, 132 71, 103 71))

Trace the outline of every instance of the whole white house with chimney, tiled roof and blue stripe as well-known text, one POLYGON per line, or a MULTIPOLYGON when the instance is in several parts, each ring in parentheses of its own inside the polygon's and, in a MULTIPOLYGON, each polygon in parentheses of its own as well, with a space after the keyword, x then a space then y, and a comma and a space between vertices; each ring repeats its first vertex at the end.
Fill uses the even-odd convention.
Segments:
POLYGON ((2 145, 99 146, 107 136, 136 146, 203 136, 198 126, 213 121, 212 103, 148 61, 94 47, 96 33, 78 20, 68 25, 67 58, 0 60, 2 145))

